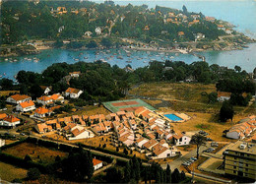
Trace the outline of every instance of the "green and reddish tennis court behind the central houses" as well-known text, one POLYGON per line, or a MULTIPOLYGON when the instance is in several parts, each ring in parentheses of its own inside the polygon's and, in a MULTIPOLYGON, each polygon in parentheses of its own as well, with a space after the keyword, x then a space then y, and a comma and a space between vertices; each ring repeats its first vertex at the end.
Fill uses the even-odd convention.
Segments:
POLYGON ((106 109, 108 109, 111 112, 117 112, 117 111, 135 111, 137 108, 141 106, 145 106, 149 108, 150 110, 155 110, 155 108, 148 103, 144 102, 141 99, 127 99, 127 100, 117 100, 117 101, 107 101, 103 102, 103 105, 106 109))

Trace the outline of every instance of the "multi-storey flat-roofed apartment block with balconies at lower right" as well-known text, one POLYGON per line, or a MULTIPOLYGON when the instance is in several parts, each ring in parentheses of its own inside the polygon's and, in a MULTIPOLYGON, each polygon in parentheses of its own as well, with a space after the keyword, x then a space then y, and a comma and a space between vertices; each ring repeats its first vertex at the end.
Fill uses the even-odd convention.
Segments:
POLYGON ((256 178, 256 144, 237 141, 224 152, 224 173, 256 178))

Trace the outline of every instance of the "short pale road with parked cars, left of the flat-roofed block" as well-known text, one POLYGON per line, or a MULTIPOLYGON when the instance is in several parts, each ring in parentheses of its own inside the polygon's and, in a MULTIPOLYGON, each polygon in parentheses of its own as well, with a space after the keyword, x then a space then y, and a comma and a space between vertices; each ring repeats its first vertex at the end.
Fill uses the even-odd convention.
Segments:
MULTIPOLYGON (((199 150, 199 154, 202 154, 203 151, 206 150, 206 149, 208 149, 208 148, 210 148, 210 145, 209 145, 209 144, 208 144, 206 147, 202 146, 202 147, 200 148, 200 150, 199 150)), ((185 155, 182 155, 182 156, 178 157, 177 159, 174 159, 174 160, 171 161, 171 162, 168 162, 168 163, 165 163, 165 164, 161 164, 160 166, 165 169, 165 168, 167 167, 167 164, 169 164, 170 169, 171 169, 171 170, 174 170, 175 168, 179 168, 180 165, 181 165, 185 160, 189 159, 189 158, 192 157, 192 156, 196 156, 196 154, 197 154, 197 153, 196 153, 196 149, 195 149, 195 150, 193 150, 193 151, 191 151, 191 152, 189 152, 189 153, 186 153, 185 155)))

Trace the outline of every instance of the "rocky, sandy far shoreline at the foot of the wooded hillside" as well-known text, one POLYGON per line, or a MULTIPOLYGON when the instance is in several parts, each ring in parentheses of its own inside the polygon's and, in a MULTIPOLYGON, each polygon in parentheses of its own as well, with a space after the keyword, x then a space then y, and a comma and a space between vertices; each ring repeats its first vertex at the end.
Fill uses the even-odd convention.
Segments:
MULTIPOLYGON (((242 50, 247 48, 246 44, 256 42, 255 39, 252 39, 245 35, 224 35, 220 36, 219 40, 204 42, 204 41, 191 41, 191 42, 176 42, 174 43, 176 46, 173 47, 160 47, 160 46, 144 46, 138 47, 134 45, 129 46, 121 46, 124 49, 132 49, 132 50, 141 50, 141 51, 156 51, 156 52, 181 52, 181 53, 189 53, 189 52, 203 52, 210 50, 242 50), (186 48, 180 48, 179 45, 183 44, 186 48)), ((40 53, 40 50, 43 49, 52 49, 52 44, 47 43, 40 44, 36 46, 32 45, 6 45, 0 47, 0 57, 17 57, 24 55, 32 55, 40 53)), ((96 49, 101 50, 102 47, 97 47, 96 49)), ((78 49, 80 50, 80 49, 78 49)))

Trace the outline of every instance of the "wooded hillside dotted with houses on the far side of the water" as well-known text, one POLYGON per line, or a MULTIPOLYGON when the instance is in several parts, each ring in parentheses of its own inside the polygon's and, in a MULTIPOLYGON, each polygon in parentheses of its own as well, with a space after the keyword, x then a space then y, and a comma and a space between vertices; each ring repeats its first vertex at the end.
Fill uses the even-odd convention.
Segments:
POLYGON ((22 43, 31 39, 80 38, 86 31, 143 41, 194 40, 201 32, 206 40, 224 34, 202 13, 147 5, 127 6, 90 1, 4 1, 1 5, 1 43, 22 43), (193 24, 192 24, 193 23, 193 24), (179 34, 178 32, 184 34, 179 34))

